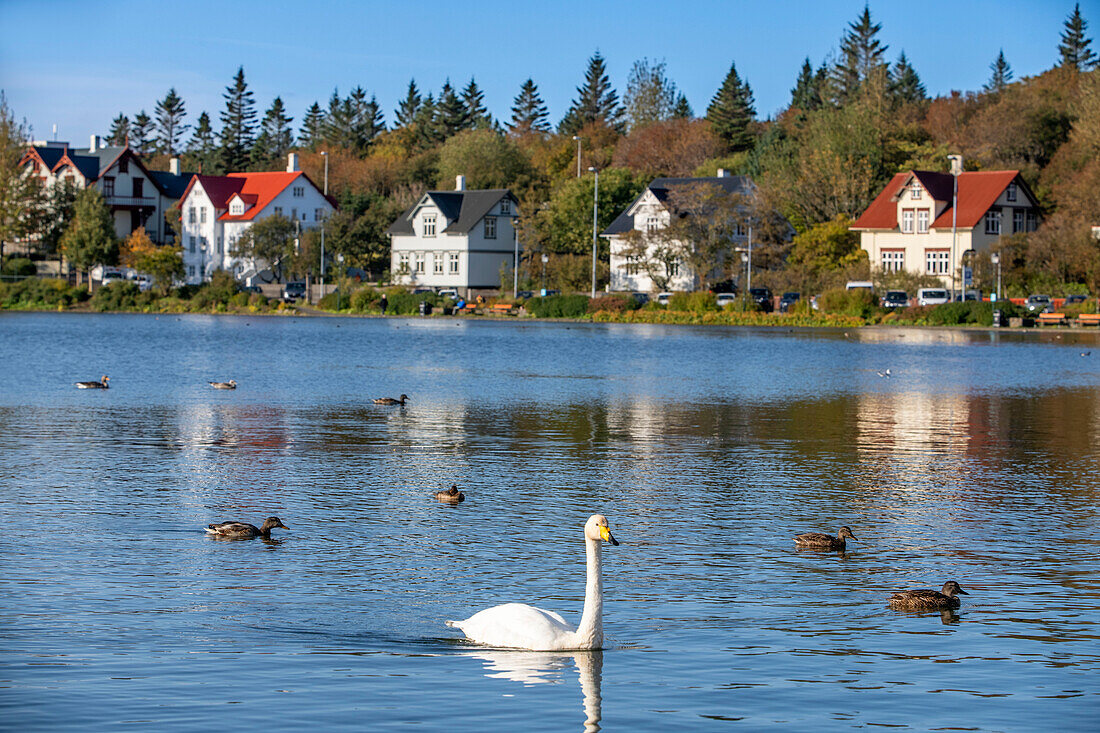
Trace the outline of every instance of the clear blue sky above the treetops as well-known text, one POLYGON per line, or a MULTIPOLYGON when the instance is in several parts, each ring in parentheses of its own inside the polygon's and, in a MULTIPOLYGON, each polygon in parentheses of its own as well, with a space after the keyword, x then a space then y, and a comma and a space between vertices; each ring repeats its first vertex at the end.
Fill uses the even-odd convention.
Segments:
MULTIPOLYGON (((262 113, 282 96, 295 118, 333 87, 377 95, 387 123, 415 77, 421 92, 450 77, 476 78, 490 111, 507 119, 527 77, 553 123, 564 114, 597 48, 625 91, 636 59, 663 59, 696 114, 736 63, 760 117, 790 99, 802 61, 835 53, 864 0, 771 2, 559 0, 546 6, 483 0, 310 0, 283 9, 255 0, 0 0, 0 89, 36 138, 87 144, 120 111, 153 113, 175 87, 188 122, 206 110, 217 125, 221 94, 244 66, 262 113)), ((1100 0, 1081 2, 1096 41, 1100 0)), ((1054 65, 1072 2, 923 0, 870 3, 891 61, 904 50, 930 94, 976 90, 999 50, 1016 78, 1054 65)))

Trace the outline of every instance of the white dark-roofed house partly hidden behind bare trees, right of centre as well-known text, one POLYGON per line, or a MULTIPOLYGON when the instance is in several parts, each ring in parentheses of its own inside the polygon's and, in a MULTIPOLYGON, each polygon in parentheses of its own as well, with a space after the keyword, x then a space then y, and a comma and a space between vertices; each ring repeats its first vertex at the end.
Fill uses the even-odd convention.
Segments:
MULTIPOLYGON (((654 260, 658 259, 649 244, 646 254, 639 255, 631 232, 641 234, 653 233, 664 229, 671 222, 673 211, 669 207, 669 196, 676 187, 693 185, 713 185, 724 189, 729 195, 751 196, 756 185, 748 176, 733 176, 725 169, 718 169, 714 177, 701 178, 654 178, 646 189, 620 214, 601 237, 610 245, 610 289, 619 292, 648 293, 658 289, 650 276, 654 260)), ((736 233, 729 242, 730 252, 748 243, 748 228, 738 225, 736 233)), ((695 273, 675 259, 664 259, 660 262, 662 280, 668 280, 668 288, 672 291, 692 291, 697 284, 695 273)))

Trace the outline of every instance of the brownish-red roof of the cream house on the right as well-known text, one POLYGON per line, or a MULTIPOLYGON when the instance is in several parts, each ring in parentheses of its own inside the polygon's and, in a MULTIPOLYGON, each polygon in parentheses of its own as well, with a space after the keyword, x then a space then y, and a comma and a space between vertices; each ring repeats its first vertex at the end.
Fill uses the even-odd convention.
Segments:
MULTIPOLYGON (((882 189, 871 205, 867 207, 856 221, 853 229, 897 229, 898 228, 898 196, 909 184, 912 176, 916 176, 921 185, 928 192, 933 200, 946 204, 944 210, 932 222, 933 229, 942 229, 952 226, 952 174, 935 173, 931 171, 905 171, 898 173, 887 187, 882 189)), ((963 229, 970 229, 981 221, 989 208, 997 203, 1000 195, 1008 188, 1009 184, 1020 176, 1019 171, 969 171, 959 174, 958 190, 958 217, 957 226, 963 229)), ((1018 182, 1020 183, 1020 182, 1018 182)), ((1024 186, 1020 188, 1026 192, 1024 186)), ((1025 196, 1027 194, 1025 193, 1025 196)), ((1031 205, 1026 198, 1022 201, 1031 205)))

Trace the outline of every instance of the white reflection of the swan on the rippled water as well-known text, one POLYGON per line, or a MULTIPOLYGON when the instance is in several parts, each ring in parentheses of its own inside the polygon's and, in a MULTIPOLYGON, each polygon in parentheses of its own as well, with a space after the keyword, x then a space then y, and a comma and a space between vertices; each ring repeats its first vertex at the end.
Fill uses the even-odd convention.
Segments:
POLYGON ((506 652, 479 650, 466 656, 484 663, 485 676, 509 679, 522 685, 557 685, 563 681, 570 663, 576 665, 581 678, 581 694, 584 704, 584 731, 600 730, 603 698, 600 685, 603 681, 604 653, 593 652, 506 652))

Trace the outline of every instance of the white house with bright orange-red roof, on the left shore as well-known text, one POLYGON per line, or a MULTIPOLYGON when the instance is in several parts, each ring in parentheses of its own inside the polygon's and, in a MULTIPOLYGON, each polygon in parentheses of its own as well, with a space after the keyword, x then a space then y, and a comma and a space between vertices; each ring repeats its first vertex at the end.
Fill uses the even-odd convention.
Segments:
POLYGON ((253 222, 283 215, 302 230, 312 229, 334 210, 332 199, 298 169, 297 153, 287 156, 286 171, 196 174, 179 201, 185 278, 197 284, 227 270, 253 284, 270 263, 233 254, 233 244, 253 222))

